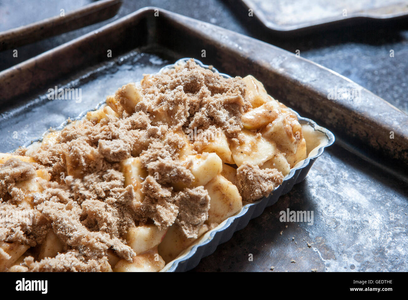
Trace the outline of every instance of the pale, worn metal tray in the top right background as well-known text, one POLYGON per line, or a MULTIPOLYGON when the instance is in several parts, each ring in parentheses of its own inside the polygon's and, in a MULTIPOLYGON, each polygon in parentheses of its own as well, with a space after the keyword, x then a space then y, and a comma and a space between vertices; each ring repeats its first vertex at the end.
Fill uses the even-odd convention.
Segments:
POLYGON ((276 32, 315 32, 316 29, 385 22, 408 16, 406 0, 241 0, 253 16, 276 32))

